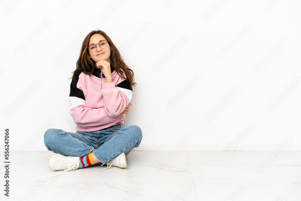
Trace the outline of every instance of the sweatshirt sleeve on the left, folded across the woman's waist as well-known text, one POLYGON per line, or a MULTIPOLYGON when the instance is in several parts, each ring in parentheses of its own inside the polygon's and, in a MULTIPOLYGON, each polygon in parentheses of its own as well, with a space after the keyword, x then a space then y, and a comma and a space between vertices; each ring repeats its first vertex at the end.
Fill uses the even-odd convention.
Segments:
MULTIPOLYGON (((115 119, 109 116, 104 107, 88 108, 85 104, 83 84, 79 80, 81 71, 76 71, 70 84, 70 115, 74 122, 83 128, 91 128, 103 124, 109 124, 115 119)), ((123 112, 123 110, 121 111, 123 112)), ((120 112, 120 113, 121 113, 120 112)))

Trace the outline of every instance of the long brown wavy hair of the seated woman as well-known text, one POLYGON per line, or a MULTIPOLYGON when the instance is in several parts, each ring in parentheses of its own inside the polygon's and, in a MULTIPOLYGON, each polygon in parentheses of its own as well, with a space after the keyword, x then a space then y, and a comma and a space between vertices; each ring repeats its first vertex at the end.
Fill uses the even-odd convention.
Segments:
MULTIPOLYGON (((130 82, 131 88, 132 88, 132 86, 136 86, 137 83, 134 82, 134 72, 124 63, 122 56, 120 55, 118 49, 116 48, 116 46, 114 45, 114 43, 112 42, 110 37, 107 36, 107 34, 105 32, 98 30, 98 29, 93 30, 90 33, 88 33, 88 35, 85 37, 84 41, 82 42, 82 48, 80 50, 80 55, 76 62, 76 69, 72 73, 74 74, 74 72, 78 68, 81 68, 82 72, 87 75, 93 74, 95 72, 95 69, 97 68, 96 63, 92 58, 89 58, 90 54, 89 54, 89 51, 87 48, 89 46, 91 36, 93 36, 94 34, 97 34, 97 33, 104 36, 104 38, 109 43, 110 61, 111 61, 111 64, 112 64, 112 67, 114 68, 114 70, 117 71, 118 75, 122 79, 128 80, 130 82), (123 72, 120 69, 122 69, 123 72, 126 74, 126 78, 123 76, 123 72)), ((69 79, 71 79, 72 77, 70 77, 69 79)))

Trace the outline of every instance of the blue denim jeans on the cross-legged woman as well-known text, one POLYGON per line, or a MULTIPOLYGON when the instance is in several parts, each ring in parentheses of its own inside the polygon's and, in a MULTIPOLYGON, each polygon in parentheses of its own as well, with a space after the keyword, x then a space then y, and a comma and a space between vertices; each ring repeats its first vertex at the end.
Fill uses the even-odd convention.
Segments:
POLYGON ((101 130, 75 133, 51 128, 45 131, 44 144, 49 151, 64 156, 85 156, 93 153, 102 163, 106 164, 121 153, 128 155, 142 140, 142 130, 137 125, 121 128, 121 124, 101 130))

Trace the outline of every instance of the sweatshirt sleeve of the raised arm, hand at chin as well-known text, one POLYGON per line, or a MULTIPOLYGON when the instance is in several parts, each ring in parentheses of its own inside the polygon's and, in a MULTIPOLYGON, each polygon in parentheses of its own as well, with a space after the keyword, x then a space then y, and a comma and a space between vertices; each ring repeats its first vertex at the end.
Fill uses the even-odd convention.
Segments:
MULTIPOLYGON (((124 74, 125 76, 125 74, 124 74)), ((111 83, 104 83, 102 95, 104 97, 104 108, 111 117, 120 115, 123 110, 129 105, 132 99, 133 90, 128 80, 117 80, 111 83)))

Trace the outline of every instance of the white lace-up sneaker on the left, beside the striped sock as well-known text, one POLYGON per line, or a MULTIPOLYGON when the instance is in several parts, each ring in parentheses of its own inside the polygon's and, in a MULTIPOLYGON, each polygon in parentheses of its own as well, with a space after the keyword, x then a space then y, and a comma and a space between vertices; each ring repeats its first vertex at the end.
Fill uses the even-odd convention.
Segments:
POLYGON ((64 156, 61 154, 53 155, 48 162, 48 168, 52 170, 76 170, 79 167, 78 156, 64 156))

